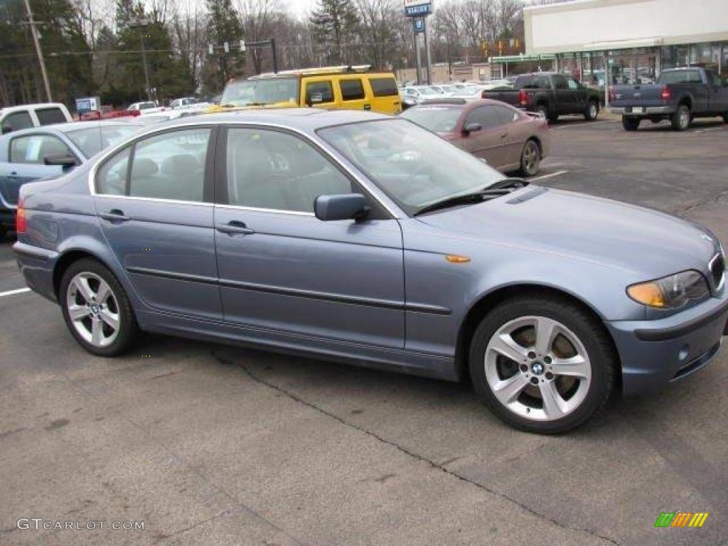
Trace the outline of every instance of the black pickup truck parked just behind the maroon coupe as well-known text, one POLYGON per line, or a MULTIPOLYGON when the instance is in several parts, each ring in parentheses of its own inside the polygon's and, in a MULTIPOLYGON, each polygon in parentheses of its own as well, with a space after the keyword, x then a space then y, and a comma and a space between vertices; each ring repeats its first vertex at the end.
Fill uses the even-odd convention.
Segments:
POLYGON ((563 114, 580 114, 587 121, 593 121, 599 114, 598 91, 557 72, 522 74, 515 80, 513 89, 483 91, 482 98, 538 112, 552 123, 563 114))

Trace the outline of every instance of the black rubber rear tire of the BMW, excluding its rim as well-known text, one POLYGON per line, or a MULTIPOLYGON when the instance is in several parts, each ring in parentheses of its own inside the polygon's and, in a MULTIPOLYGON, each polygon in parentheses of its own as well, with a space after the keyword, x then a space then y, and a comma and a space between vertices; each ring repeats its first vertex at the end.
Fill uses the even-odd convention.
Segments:
POLYGON ((60 302, 63 319, 66 320, 68 331, 71 332, 76 341, 78 341, 79 345, 92 355, 101 357, 114 357, 121 355, 133 347, 139 337, 139 326, 124 288, 106 266, 92 258, 84 258, 68 266, 68 269, 66 269, 66 272, 63 274, 63 278, 60 281, 58 301, 60 302), (71 320, 68 309, 68 285, 71 284, 71 281, 74 280, 74 277, 78 274, 91 274, 99 277, 106 282, 113 294, 114 311, 116 311, 115 314, 118 316, 118 331, 114 340, 105 347, 97 347, 95 344, 84 339, 82 334, 76 330, 76 325, 74 325, 74 322, 71 320))

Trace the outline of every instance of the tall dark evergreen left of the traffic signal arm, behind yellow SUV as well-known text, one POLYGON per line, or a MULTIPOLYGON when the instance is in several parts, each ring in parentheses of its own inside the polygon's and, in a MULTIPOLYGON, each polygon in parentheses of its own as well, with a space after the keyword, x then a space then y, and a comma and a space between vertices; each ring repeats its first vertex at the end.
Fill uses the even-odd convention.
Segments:
POLYGON ((208 59, 207 76, 215 81, 208 81, 208 87, 222 90, 232 77, 242 76, 245 70, 245 52, 238 49, 243 39, 242 23, 231 0, 207 0, 207 40, 215 47, 229 44, 230 52, 215 50, 215 60, 208 59))

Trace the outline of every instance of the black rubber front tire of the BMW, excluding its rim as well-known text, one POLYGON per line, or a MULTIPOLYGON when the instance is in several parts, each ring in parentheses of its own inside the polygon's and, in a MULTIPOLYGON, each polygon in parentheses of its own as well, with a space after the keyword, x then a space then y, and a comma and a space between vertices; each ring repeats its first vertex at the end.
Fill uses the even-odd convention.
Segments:
POLYGON ((585 309, 566 299, 534 295, 504 301, 483 318, 470 344, 469 366, 475 392, 499 419, 526 432, 558 434, 579 427, 606 407, 614 390, 619 361, 604 325, 585 309), (585 347, 591 379, 588 387, 585 387, 587 390, 582 402, 566 416, 550 421, 527 419, 502 404, 488 384, 485 364, 488 342, 502 326, 519 317, 557 320, 569 328, 585 347))

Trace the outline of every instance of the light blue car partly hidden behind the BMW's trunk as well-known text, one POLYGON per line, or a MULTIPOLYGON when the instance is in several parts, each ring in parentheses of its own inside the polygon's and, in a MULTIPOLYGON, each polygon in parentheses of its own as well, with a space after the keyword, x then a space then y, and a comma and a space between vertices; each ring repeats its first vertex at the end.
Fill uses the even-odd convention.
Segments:
POLYGON ((17 130, 0 138, 0 238, 15 229, 20 186, 56 178, 143 125, 135 122, 76 122, 17 130))

